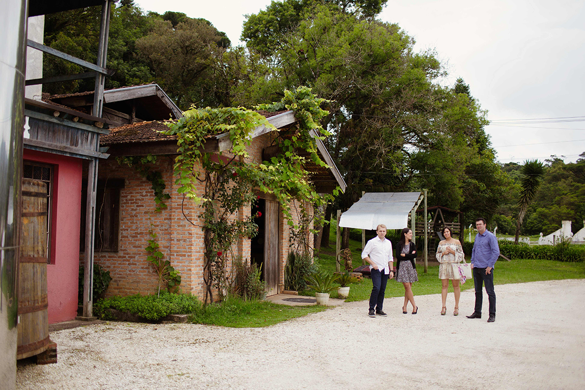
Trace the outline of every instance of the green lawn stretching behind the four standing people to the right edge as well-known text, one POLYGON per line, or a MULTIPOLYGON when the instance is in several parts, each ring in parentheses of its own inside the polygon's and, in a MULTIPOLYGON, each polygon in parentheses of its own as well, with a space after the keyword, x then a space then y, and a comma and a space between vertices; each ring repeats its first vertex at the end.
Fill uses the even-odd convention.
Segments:
MULTIPOLYGON (((317 264, 322 271, 335 271, 335 243, 332 249, 324 249, 319 253, 317 264)), ((352 250, 353 267, 362 264, 360 258, 362 243, 350 240, 349 247, 352 250)), ((469 260, 469 259, 468 259, 469 260)), ((395 265, 395 264, 394 264, 395 265)), ((418 282, 412 285, 414 295, 441 293, 441 280, 439 279, 439 266, 429 266, 428 273, 424 273, 424 263, 417 261, 418 282)), ((585 279, 585 263, 563 263, 552 260, 514 260, 498 261, 494 270, 494 284, 523 283, 542 280, 559 279, 585 279)), ((461 285, 462 290, 473 288, 473 279, 461 285)), ((371 279, 364 278, 361 282, 351 285, 349 297, 346 302, 364 301, 370 298, 371 279)), ((453 287, 449 284, 449 292, 453 287)), ((314 295, 309 291, 302 295, 314 295)), ((388 281, 386 298, 404 296, 404 287, 393 280, 388 281)), ((337 292, 332 292, 331 298, 337 298, 337 292)))

